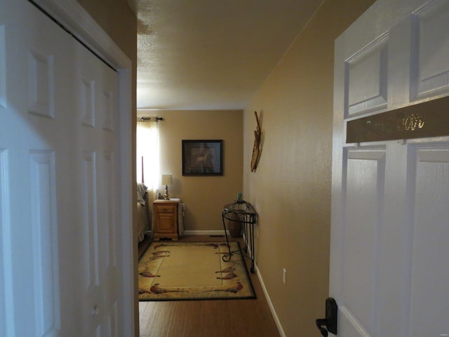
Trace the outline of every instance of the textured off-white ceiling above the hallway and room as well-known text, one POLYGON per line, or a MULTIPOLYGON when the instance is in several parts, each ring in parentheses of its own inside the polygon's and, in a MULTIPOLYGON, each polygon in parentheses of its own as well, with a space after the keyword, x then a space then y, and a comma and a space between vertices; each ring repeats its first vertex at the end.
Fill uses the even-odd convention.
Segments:
POLYGON ((322 0, 128 0, 138 108, 243 109, 322 0))

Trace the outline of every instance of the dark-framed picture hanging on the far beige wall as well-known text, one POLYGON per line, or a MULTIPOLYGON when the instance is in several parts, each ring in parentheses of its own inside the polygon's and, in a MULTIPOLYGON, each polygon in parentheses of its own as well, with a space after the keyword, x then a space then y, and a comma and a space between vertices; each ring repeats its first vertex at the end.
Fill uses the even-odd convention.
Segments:
POLYGON ((182 176, 222 176, 223 140, 182 140, 182 176))

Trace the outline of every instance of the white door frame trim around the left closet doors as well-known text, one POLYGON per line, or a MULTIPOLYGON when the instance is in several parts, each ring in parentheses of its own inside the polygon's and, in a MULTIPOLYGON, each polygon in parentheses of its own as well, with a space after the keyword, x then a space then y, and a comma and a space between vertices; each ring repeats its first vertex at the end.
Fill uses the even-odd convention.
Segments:
POLYGON ((121 245, 123 247, 123 333, 135 336, 135 317, 138 315, 135 286, 135 259, 133 238, 133 63, 91 15, 75 0, 34 0, 48 14, 64 25, 83 44, 114 67, 119 75, 119 183, 121 218, 121 245))

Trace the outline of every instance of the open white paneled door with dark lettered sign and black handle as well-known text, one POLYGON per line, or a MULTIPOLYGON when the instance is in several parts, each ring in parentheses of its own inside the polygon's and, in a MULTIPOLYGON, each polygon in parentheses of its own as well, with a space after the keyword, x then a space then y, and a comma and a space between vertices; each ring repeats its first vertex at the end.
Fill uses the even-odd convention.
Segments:
POLYGON ((345 143, 347 121, 449 95, 448 22, 447 0, 378 0, 335 41, 338 336, 449 334, 449 138, 345 143))

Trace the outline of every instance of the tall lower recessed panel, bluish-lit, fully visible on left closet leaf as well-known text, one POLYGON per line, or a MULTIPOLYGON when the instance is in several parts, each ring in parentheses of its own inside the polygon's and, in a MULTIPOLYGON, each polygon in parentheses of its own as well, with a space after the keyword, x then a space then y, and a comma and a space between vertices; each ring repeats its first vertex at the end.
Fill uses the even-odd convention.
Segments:
POLYGON ((30 151, 34 312, 38 336, 60 322, 55 152, 30 151))

